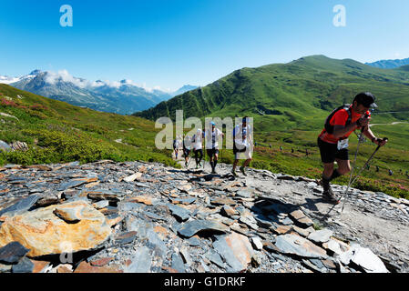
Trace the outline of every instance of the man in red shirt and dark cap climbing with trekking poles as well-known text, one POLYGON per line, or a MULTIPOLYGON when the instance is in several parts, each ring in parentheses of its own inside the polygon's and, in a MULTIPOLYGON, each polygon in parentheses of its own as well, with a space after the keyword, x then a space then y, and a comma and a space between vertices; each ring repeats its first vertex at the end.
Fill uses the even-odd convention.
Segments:
POLYGON ((338 204, 339 200, 333 194, 330 182, 351 171, 348 136, 354 130, 363 128, 363 135, 372 140, 374 144, 383 146, 387 142, 376 138, 369 128, 371 114, 368 110, 377 107, 374 101, 375 97, 369 92, 356 95, 353 105, 345 105, 333 115, 328 116, 325 128, 318 136, 318 146, 323 163, 322 196, 332 204, 338 204), (335 170, 333 169, 334 161, 338 164, 335 170))

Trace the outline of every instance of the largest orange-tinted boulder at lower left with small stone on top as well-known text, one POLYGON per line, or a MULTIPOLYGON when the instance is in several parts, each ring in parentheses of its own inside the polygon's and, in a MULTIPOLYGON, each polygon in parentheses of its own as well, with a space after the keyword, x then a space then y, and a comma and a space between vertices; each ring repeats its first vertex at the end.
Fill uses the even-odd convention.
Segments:
POLYGON ((92 249, 111 234, 105 216, 85 201, 48 206, 8 217, 0 227, 0 246, 17 241, 30 249, 27 256, 45 256, 92 249), (67 223, 54 214, 56 208, 72 211, 77 223, 67 223))

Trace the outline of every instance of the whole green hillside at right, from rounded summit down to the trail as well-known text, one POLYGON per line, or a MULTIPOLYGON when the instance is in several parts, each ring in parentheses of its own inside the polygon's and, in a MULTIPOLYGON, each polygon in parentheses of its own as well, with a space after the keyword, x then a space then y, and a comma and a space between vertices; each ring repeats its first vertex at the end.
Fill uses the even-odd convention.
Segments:
MULTIPOLYGON (((379 109, 373 114, 375 135, 388 136, 390 143, 373 160, 370 171, 355 186, 409 198, 409 71, 406 67, 385 70, 351 59, 335 60, 323 55, 303 57, 289 64, 242 68, 202 88, 176 96, 138 113, 151 120, 175 118, 175 111, 189 116, 250 115, 258 141, 251 166, 291 175, 320 178, 322 164, 316 139, 324 119, 338 105, 351 103, 353 96, 371 91, 379 109), (270 148, 270 145, 272 148, 270 148), (283 152, 280 151, 280 146, 283 152), (291 148, 294 153, 291 153, 291 148), (308 149, 312 155, 308 157, 308 149), (380 171, 376 172, 375 165, 380 171), (394 176, 388 176, 388 170, 394 176), (402 174, 399 174, 402 170, 402 174)), ((353 158, 356 137, 351 137, 353 158)), ((361 147, 357 166, 363 166, 374 146, 361 147)), ((231 163, 231 151, 223 161, 231 163)), ((347 184, 348 178, 335 181, 347 184)))

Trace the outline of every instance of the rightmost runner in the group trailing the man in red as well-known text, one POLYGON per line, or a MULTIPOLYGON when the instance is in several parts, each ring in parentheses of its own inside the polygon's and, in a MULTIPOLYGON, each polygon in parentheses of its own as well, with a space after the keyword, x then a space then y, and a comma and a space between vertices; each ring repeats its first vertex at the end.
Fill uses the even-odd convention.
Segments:
POLYGON ((233 154, 234 154, 234 163, 231 174, 237 176, 236 166, 239 163, 240 154, 243 154, 246 160, 243 163, 243 166, 240 166, 240 172, 244 176, 247 176, 244 172, 244 168, 249 166, 251 162, 251 147, 252 147, 252 129, 251 125, 248 124, 248 116, 243 117, 242 123, 236 125, 233 130, 233 154))

